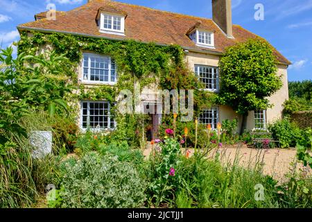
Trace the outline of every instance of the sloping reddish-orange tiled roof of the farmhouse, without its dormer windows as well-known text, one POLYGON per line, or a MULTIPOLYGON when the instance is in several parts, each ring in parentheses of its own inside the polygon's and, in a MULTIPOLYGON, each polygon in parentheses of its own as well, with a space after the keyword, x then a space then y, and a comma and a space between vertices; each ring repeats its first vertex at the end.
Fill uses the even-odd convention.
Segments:
MULTIPOLYGON (((226 37, 212 19, 181 15, 173 12, 154 10, 144 6, 135 6, 110 0, 93 0, 70 10, 58 13, 56 20, 40 19, 17 27, 19 30, 35 29, 38 31, 59 31, 94 37, 109 37, 114 39, 131 39, 141 42, 155 42, 157 44, 178 44, 185 49, 206 51, 207 53, 222 53, 227 46, 236 42, 243 42, 257 35, 245 30, 239 25, 233 26, 234 39, 226 37), (96 23, 96 16, 100 8, 109 8, 115 12, 125 12, 125 36, 100 33, 96 23), (214 31, 215 49, 205 49, 189 39, 187 32, 192 27, 200 26, 214 31)), ((281 63, 291 64, 275 49, 275 56, 281 63)))

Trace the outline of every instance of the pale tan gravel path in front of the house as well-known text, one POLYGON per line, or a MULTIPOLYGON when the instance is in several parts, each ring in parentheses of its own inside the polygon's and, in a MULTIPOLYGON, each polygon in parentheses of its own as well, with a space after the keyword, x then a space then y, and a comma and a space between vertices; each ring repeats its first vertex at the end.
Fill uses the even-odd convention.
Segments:
MULTIPOLYGON (((151 147, 148 146, 144 155, 148 157, 151 151, 151 147)), ((191 155, 193 149, 190 150, 191 155)), ((246 145, 236 146, 223 146, 223 148, 214 149, 209 153, 209 157, 214 158, 216 153, 220 154, 220 160, 223 164, 232 164, 234 160, 238 162, 241 167, 253 168, 255 164, 263 164, 263 173, 270 175, 279 182, 285 182, 287 180, 286 174, 293 171, 303 171, 309 176, 312 176, 312 170, 308 167, 304 167, 296 160, 296 149, 256 149, 248 148, 246 145)))

